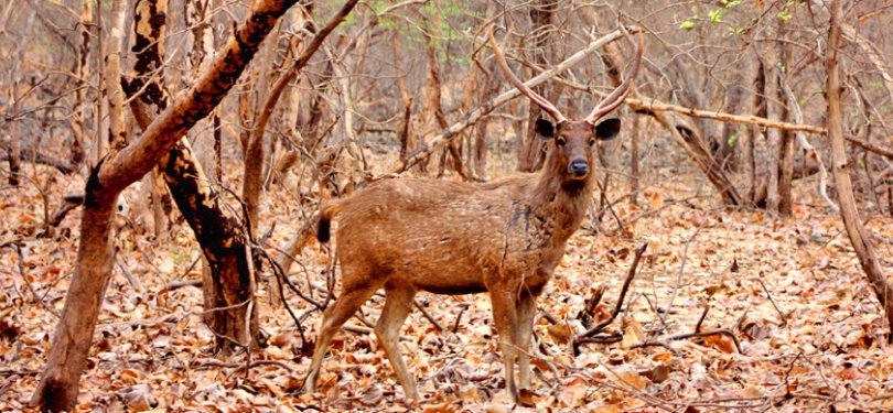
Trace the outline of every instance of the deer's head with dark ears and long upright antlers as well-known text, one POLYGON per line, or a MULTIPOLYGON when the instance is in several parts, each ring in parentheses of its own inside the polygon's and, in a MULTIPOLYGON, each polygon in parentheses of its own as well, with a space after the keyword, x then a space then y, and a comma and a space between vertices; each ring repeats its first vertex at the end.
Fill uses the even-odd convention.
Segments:
MULTIPOLYGON (((636 45, 624 26, 621 26, 621 31, 626 35, 626 40, 630 44, 636 45)), ((502 48, 496 44, 493 31, 489 32, 489 45, 508 83, 555 119, 555 123, 546 119, 538 119, 536 131, 542 139, 552 140, 555 144, 555 151, 552 152, 555 160, 552 164, 556 169, 552 172, 559 174, 563 184, 574 185, 587 180, 592 171, 592 149, 595 143, 598 141, 614 139, 620 132, 620 119, 611 118, 603 121, 600 120, 620 106, 630 94, 630 86, 636 73, 638 73, 638 66, 642 62, 643 42, 642 34, 639 33, 635 57, 633 64, 626 69, 623 76, 623 83, 602 99, 585 119, 568 120, 552 102, 527 87, 515 76, 505 62, 502 48)))

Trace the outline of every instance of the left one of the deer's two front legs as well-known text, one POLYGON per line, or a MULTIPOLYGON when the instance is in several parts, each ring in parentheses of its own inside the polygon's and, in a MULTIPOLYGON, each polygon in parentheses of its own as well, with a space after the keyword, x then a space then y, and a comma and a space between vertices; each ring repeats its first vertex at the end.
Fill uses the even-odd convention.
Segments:
POLYGON ((499 334, 503 363, 505 365, 505 389, 515 403, 519 403, 518 388, 515 384, 515 358, 518 354, 517 290, 492 289, 491 300, 493 301, 493 320, 496 323, 496 332, 499 334))

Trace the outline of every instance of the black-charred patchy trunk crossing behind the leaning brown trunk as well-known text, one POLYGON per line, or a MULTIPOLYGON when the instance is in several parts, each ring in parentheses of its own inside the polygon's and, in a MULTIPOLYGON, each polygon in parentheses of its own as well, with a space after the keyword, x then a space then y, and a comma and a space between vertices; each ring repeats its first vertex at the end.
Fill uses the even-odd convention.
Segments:
MULTIPOLYGON (((153 78, 153 73, 159 74, 155 79, 162 77, 166 25, 160 17, 166 15, 168 0, 140 0, 135 10, 137 73, 128 89, 131 94, 143 87, 147 90, 131 100, 135 118, 146 130, 151 119, 168 106, 160 80, 148 85, 142 80, 153 78)), ((194 64, 200 67, 202 63, 194 64)), ((158 171, 211 269, 203 284, 204 320, 216 334, 217 350, 228 352, 235 346, 250 346, 258 328, 257 312, 248 305, 255 291, 255 273, 250 240, 243 233, 241 222, 219 204, 219 194, 208 185, 211 181, 185 137, 162 156, 158 171)))

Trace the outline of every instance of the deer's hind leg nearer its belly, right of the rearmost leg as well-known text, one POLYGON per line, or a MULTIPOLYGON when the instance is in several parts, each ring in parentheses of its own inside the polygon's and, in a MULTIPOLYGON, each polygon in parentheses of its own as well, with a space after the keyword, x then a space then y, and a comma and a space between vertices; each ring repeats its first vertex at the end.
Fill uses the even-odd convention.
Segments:
POLYGON ((404 388, 407 399, 419 400, 416 390, 416 380, 404 363, 400 352, 400 327, 412 311, 412 300, 416 290, 408 285, 385 285, 385 308, 375 325, 375 335, 390 360, 390 366, 397 373, 397 380, 404 388))

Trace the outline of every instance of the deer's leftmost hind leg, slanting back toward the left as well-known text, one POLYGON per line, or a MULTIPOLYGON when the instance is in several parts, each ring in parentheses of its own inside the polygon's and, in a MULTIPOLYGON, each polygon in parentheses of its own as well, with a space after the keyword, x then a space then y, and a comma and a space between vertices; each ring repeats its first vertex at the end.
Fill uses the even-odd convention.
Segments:
MULTIPOLYGON (((342 268, 342 272, 344 269, 342 268)), ((335 304, 323 313, 320 337, 316 338, 316 346, 313 349, 313 361, 310 363, 306 379, 304 379, 304 393, 316 391, 316 379, 320 376, 323 357, 342 325, 349 319, 363 304, 378 290, 378 285, 362 285, 357 287, 345 286, 341 296, 335 300, 335 304)))

